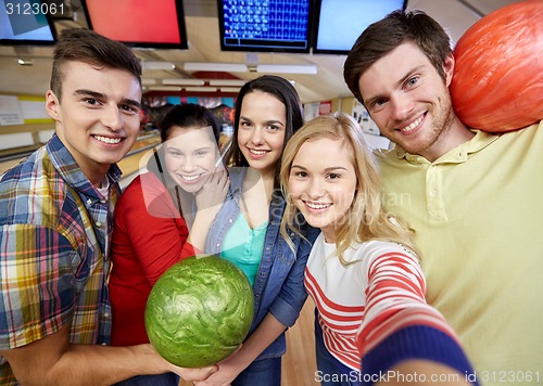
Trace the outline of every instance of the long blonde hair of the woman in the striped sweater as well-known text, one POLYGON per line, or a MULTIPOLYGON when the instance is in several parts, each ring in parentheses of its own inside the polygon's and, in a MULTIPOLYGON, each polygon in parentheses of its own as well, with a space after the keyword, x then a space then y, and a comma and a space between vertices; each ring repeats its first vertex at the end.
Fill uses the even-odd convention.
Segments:
POLYGON ((285 147, 279 179, 287 204, 280 232, 289 245, 292 247, 293 244, 288 230, 300 234, 293 223, 294 219, 301 216, 292 197, 288 194, 292 162, 305 142, 320 138, 343 141, 345 151, 352 154, 357 179, 353 203, 345 214, 346 221, 338 223, 336 228, 337 255, 341 263, 348 265, 343 259, 343 253, 353 243, 369 240, 399 243, 420 256, 413 242, 413 231, 404 221, 384 211, 381 203, 380 176, 374 155, 364 140, 359 125, 350 115, 343 113, 314 118, 305 124, 285 147))

